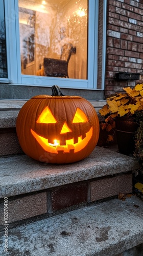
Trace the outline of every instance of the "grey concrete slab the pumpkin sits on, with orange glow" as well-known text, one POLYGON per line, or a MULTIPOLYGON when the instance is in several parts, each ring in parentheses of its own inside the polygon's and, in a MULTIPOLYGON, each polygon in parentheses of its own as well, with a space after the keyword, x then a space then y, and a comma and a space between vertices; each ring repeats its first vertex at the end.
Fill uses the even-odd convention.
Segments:
POLYGON ((136 159, 102 147, 96 147, 87 158, 71 164, 45 164, 23 155, 0 158, 0 165, 0 198, 139 168, 136 159))

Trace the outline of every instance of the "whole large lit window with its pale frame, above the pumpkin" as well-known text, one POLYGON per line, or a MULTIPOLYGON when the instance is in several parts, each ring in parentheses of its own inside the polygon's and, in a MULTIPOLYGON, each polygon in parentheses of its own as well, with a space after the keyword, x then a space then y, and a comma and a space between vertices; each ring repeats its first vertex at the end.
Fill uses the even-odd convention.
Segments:
MULTIPOLYGON (((106 14, 106 0, 101 2, 106 14)), ((98 0, 5 0, 4 4, 9 82, 97 89, 98 0)), ((103 30, 104 37, 104 26, 103 30)))

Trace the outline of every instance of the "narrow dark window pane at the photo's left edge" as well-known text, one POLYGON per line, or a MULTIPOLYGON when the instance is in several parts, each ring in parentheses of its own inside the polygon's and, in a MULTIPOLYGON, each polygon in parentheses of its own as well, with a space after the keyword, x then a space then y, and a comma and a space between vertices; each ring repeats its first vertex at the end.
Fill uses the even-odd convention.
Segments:
POLYGON ((6 30, 4 19, 4 1, 0 0, 0 77, 7 78, 6 30))

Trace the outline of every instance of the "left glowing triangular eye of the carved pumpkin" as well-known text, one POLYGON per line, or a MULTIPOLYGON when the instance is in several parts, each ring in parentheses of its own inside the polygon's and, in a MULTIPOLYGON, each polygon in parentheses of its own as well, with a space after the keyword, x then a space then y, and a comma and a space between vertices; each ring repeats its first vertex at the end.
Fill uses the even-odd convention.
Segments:
POLYGON ((53 116, 48 106, 46 106, 46 108, 42 111, 42 113, 40 114, 36 122, 37 123, 57 123, 55 117, 53 116))

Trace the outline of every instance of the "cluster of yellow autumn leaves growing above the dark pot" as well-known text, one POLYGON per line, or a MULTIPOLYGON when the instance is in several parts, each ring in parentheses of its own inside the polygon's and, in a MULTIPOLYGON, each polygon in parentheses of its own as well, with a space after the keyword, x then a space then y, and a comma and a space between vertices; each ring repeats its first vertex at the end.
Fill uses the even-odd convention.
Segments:
MULTIPOLYGON (((116 93, 115 96, 107 98, 107 104, 99 110, 102 116, 107 116, 105 122, 101 123, 102 130, 111 131, 115 127, 116 116, 131 116, 136 111, 143 110, 143 84, 137 84, 133 89, 123 88, 125 93, 116 93)), ((108 141, 112 140, 111 135, 108 141)))

